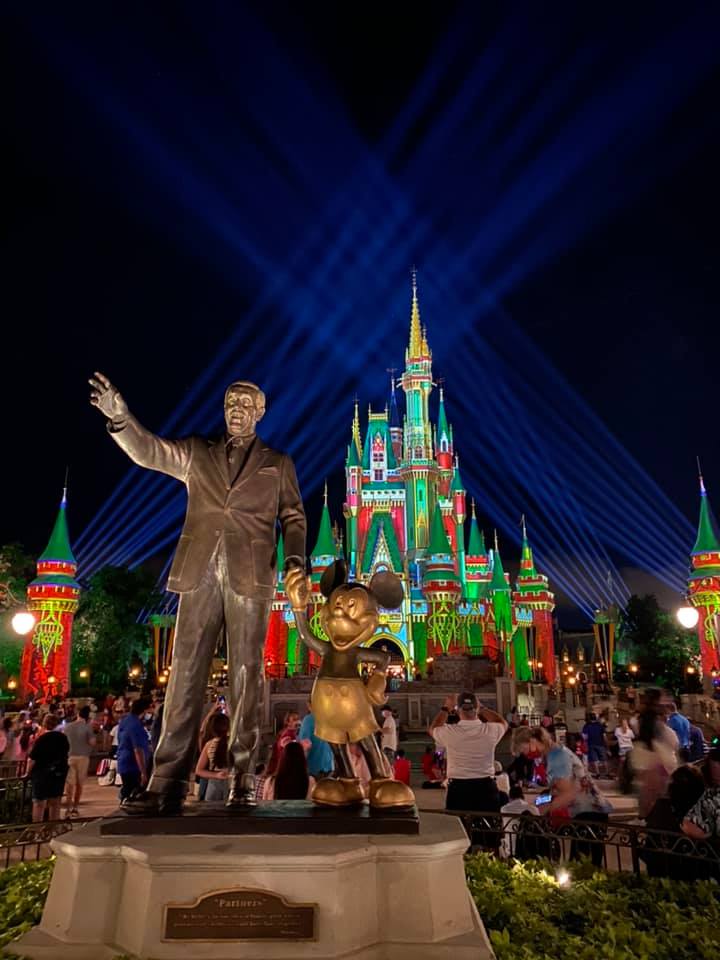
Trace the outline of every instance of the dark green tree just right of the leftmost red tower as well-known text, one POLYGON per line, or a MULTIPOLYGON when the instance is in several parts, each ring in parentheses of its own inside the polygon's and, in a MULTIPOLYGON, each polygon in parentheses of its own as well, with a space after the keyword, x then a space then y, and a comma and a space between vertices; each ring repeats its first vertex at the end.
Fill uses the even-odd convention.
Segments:
POLYGON ((123 689, 131 662, 147 661, 149 634, 138 616, 157 599, 154 577, 144 570, 104 567, 94 574, 73 624, 73 675, 87 668, 94 687, 123 689))

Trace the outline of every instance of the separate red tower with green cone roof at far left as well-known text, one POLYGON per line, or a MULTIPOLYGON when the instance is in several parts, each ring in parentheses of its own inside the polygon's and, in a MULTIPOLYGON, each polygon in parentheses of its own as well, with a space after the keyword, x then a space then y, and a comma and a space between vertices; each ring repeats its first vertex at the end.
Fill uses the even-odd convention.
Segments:
POLYGON ((25 641, 20 673, 24 698, 43 703, 70 689, 72 623, 80 600, 77 561, 70 547, 67 487, 63 490, 50 541, 37 562, 37 577, 27 589, 35 627, 25 641))

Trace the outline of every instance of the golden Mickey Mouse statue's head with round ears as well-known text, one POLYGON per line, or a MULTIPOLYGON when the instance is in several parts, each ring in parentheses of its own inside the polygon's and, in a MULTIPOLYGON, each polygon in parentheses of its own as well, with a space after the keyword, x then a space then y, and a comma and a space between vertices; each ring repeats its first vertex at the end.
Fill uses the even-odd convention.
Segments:
POLYGON ((378 608, 394 609, 402 603, 399 577, 384 571, 376 573, 365 586, 346 583, 347 568, 342 560, 325 570, 320 590, 328 598, 320 608, 320 623, 336 650, 349 650, 365 643, 378 625, 378 608))

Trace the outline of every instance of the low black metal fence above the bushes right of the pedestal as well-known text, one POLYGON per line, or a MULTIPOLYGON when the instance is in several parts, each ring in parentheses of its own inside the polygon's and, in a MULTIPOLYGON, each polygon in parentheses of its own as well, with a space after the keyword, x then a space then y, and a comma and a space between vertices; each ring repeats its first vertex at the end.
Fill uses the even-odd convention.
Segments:
MULTIPOLYGON (((427 811, 431 812, 431 811, 427 811)), ((432 811, 437 813, 438 811, 432 811)), ((473 851, 563 863, 588 857, 606 870, 720 881, 720 844, 618 820, 553 821, 533 814, 441 811, 459 817, 473 851)))

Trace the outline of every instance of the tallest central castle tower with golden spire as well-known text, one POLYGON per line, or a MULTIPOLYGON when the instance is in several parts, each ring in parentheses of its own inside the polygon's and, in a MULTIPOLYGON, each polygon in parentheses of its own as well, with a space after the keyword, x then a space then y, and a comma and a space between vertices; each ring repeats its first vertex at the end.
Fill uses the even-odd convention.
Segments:
POLYGON ((422 558, 429 543, 430 519, 436 498, 432 482, 436 467, 428 400, 432 390, 432 355, 420 327, 417 275, 412 275, 410 340, 405 350, 405 370, 400 380, 405 392, 402 473, 407 488, 407 550, 411 561, 422 558))

